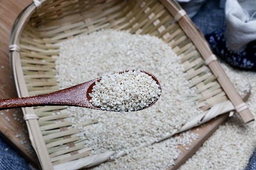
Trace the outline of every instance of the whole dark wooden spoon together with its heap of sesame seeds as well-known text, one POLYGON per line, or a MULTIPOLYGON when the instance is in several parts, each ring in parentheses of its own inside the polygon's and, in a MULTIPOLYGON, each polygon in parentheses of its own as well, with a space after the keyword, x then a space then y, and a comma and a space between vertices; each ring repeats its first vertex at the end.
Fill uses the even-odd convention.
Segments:
POLYGON ((150 107, 160 94, 161 86, 156 77, 146 71, 129 70, 48 94, 0 99, 0 110, 66 105, 124 113, 150 107))

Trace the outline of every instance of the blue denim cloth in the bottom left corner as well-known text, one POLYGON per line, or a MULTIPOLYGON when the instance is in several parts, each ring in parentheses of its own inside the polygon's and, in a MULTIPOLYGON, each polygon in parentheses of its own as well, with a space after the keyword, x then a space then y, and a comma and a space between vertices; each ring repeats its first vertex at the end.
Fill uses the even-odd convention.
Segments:
POLYGON ((29 164, 0 138, 0 170, 30 170, 29 164))

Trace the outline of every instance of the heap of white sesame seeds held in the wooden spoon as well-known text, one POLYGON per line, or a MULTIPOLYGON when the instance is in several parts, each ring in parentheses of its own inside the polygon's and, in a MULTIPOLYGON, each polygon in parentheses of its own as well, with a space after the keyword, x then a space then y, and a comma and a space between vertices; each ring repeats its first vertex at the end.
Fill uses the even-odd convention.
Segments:
POLYGON ((94 106, 107 111, 138 111, 159 99, 160 85, 140 70, 102 76, 89 94, 94 106))

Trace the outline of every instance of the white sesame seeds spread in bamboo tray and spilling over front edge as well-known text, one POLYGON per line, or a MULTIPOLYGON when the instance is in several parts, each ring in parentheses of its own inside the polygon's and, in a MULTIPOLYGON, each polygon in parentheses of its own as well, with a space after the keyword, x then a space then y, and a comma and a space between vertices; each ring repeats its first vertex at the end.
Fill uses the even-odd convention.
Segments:
MULTIPOLYGON (((183 72, 179 57, 169 45, 157 37, 132 35, 126 31, 115 30, 80 35, 61 42, 60 54, 55 63, 60 88, 80 84, 102 75, 136 69, 150 72, 161 84, 160 99, 144 110, 122 114, 67 108, 74 127, 85 120, 98 119, 99 122, 93 126, 77 127, 81 130, 78 136, 87 139, 85 146, 93 148, 92 154, 114 150, 117 155, 125 152, 128 153, 127 156, 135 154, 137 157, 144 157, 148 153, 136 148, 161 139, 166 133, 179 129, 187 120, 198 114, 197 110, 191 109, 195 103, 187 102, 188 96, 193 96, 196 89, 189 88, 189 82, 185 79, 187 74, 183 72)), ((184 140, 183 143, 191 141, 188 138, 180 140, 184 140)), ((180 153, 177 149, 180 142, 172 139, 166 142, 167 148, 161 150, 168 150, 173 154, 163 156, 159 150, 162 145, 160 142, 151 146, 151 149, 155 149, 145 150, 151 152, 152 157, 161 155, 163 158, 156 160, 148 157, 140 160, 140 164, 150 169, 164 169, 171 165, 180 153)), ((122 168, 122 164, 126 163, 126 156, 119 157, 113 168, 122 168)), ((129 164, 129 167, 136 169, 137 165, 138 162, 134 162, 129 164)))

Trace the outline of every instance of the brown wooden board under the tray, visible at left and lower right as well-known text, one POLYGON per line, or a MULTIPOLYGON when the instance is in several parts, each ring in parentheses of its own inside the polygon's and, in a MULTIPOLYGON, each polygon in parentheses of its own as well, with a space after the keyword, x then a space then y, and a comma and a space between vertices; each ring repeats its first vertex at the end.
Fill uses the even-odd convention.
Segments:
MULTIPOLYGON (((12 25, 18 14, 32 3, 32 0, 0 0, 0 99, 16 98, 17 92, 12 79, 9 64, 9 36, 12 25)), ((175 161, 176 165, 169 170, 177 169, 183 164, 203 142, 227 119, 227 114, 218 116, 204 127, 194 128, 192 132, 199 133, 199 139, 194 141, 189 150, 180 147, 182 154, 175 161)), ((26 124, 23 121, 21 109, 0 111, 0 135, 5 138, 26 160, 35 163, 35 155, 31 150, 26 124)))

